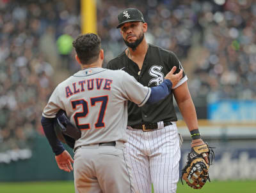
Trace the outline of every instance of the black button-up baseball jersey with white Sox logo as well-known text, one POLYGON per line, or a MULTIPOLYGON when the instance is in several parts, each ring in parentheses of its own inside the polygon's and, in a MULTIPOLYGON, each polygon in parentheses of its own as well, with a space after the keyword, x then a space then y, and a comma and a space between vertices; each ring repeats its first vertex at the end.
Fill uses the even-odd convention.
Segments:
MULTIPOLYGON (((138 65, 127 57, 125 51, 115 59, 109 61, 107 68, 122 69, 134 76, 142 85, 155 87, 163 82, 164 76, 166 76, 173 66, 177 66, 175 73, 179 73, 182 66, 173 52, 149 44, 141 71, 138 65)), ((186 82, 186 80, 188 78, 183 73, 182 79, 175 88, 186 82)), ((172 94, 158 103, 145 104, 142 107, 138 107, 137 104, 130 101, 128 102, 128 125, 156 123, 159 121, 177 121, 172 94)))

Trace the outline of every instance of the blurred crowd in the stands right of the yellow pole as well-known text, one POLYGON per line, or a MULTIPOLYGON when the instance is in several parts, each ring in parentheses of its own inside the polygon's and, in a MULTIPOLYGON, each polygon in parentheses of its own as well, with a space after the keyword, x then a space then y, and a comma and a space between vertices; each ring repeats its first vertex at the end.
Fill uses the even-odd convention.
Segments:
POLYGON ((136 7, 148 23, 148 41, 179 57, 193 98, 256 99, 256 1, 100 2, 98 27, 107 59, 124 50, 116 15, 136 7))

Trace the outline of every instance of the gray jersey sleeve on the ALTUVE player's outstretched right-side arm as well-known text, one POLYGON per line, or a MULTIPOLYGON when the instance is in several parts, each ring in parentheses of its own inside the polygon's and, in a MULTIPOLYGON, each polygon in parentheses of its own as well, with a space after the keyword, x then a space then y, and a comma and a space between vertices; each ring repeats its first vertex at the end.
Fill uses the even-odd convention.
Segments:
POLYGON ((124 91, 124 97, 138 104, 138 106, 143 106, 150 97, 151 89, 141 85, 141 83, 125 71, 122 71, 122 74, 122 90, 124 91))

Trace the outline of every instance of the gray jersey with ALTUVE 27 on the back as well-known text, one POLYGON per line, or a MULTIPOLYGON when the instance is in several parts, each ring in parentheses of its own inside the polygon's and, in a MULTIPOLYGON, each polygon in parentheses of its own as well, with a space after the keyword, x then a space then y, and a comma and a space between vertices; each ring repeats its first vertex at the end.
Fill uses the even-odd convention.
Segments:
POLYGON ((122 70, 88 68, 61 82, 44 108, 43 116, 56 117, 63 109, 82 136, 75 147, 126 141, 127 100, 143 106, 151 89, 122 70))

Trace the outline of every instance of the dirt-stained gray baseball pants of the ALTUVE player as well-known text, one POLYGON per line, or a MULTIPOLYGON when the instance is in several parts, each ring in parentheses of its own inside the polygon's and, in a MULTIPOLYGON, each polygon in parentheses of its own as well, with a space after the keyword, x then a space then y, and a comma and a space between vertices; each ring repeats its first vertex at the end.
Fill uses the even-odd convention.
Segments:
POLYGON ((133 193, 131 168, 124 143, 115 146, 86 145, 74 155, 76 193, 133 193))

